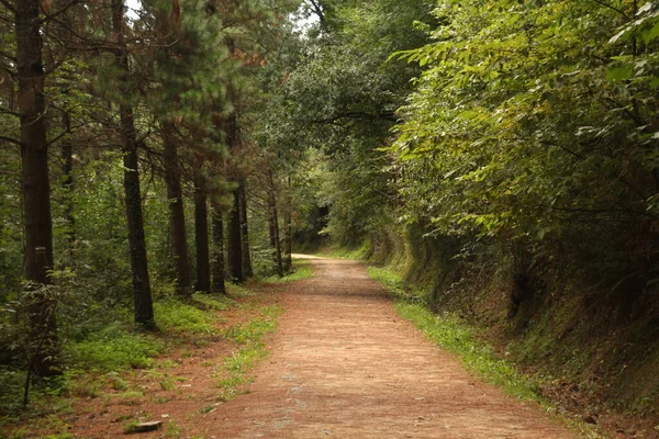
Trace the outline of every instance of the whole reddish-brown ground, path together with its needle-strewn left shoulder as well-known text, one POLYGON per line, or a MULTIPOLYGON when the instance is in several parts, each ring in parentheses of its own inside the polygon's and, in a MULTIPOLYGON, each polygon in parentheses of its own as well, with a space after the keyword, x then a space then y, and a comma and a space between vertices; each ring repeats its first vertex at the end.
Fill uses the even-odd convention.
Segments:
POLYGON ((268 286, 223 312, 222 325, 246 328, 264 309, 282 311, 264 337, 270 353, 253 370, 228 364, 259 357, 258 346, 236 350, 217 337, 178 348, 160 359, 170 368, 131 371, 126 389, 80 398, 66 437, 125 437, 136 420, 164 424, 139 438, 579 437, 537 403, 467 372, 396 314, 360 263, 313 264, 313 278, 268 286))

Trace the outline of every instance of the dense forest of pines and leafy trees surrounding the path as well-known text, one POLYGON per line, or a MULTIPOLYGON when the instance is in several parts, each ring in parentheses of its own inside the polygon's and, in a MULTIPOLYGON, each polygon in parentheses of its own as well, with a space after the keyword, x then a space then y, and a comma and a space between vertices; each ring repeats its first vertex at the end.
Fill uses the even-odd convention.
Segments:
POLYGON ((658 415, 659 2, 0 0, 0 37, 8 410, 332 246, 658 415))

